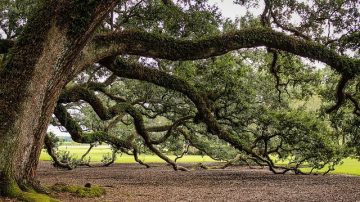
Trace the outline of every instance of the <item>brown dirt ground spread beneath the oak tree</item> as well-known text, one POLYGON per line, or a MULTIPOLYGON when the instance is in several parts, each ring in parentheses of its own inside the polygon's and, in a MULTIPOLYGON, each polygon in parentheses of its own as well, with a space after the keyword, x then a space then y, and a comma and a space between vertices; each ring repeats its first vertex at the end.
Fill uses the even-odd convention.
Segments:
POLYGON ((103 186, 101 198, 57 195, 61 201, 360 201, 360 177, 345 175, 274 175, 266 169, 173 171, 164 164, 55 169, 39 165, 42 184, 57 182, 103 186))

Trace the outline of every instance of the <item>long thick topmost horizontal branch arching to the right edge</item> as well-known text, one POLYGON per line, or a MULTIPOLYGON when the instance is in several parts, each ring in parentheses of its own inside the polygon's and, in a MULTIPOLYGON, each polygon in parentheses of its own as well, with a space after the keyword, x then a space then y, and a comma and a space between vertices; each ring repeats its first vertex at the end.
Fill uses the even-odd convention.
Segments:
POLYGON ((342 74, 355 75, 360 72, 358 59, 341 56, 320 43, 298 39, 269 28, 243 29, 199 40, 175 39, 134 30, 98 35, 86 47, 83 63, 93 63, 122 54, 169 60, 195 60, 259 46, 324 62, 342 74))

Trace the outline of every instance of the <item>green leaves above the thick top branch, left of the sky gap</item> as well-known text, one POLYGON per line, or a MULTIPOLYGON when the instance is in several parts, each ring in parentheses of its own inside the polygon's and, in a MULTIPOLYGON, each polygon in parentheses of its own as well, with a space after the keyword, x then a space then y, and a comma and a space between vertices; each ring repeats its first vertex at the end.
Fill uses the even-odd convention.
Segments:
MULTIPOLYGON (((125 4, 130 6, 131 2, 125 4)), ((221 15, 216 7, 207 5, 206 1, 195 1, 188 8, 183 4, 164 5, 160 0, 145 1, 125 11, 131 12, 130 15, 125 13, 117 23, 128 29, 136 27, 190 38, 219 33, 221 15)))

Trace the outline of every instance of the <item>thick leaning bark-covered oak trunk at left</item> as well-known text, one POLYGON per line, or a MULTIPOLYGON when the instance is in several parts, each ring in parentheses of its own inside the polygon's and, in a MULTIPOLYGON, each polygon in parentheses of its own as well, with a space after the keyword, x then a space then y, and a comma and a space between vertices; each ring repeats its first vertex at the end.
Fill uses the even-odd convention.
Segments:
POLYGON ((0 67, 0 195, 24 199, 19 192, 36 188, 36 167, 60 91, 79 71, 72 69, 74 60, 116 1, 96 2, 44 0, 0 67), (79 8, 74 2, 81 2, 79 8), (84 6, 86 20, 63 15, 80 17, 84 6))

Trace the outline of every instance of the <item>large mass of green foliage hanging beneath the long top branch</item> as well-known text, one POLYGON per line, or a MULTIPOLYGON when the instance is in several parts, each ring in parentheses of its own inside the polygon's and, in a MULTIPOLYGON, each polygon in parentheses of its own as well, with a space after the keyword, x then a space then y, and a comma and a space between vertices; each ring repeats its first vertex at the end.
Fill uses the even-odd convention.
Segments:
MULTIPOLYGON (((314 113, 319 112, 319 107, 306 106, 314 95, 318 96, 324 71, 303 64, 298 57, 280 53, 276 66, 279 80, 276 80, 269 72, 272 59, 271 54, 260 49, 238 51, 211 60, 161 61, 161 65, 171 66, 163 71, 186 80, 201 92, 220 125, 260 159, 265 159, 260 161, 261 165, 288 161, 288 168, 306 166, 332 170, 349 155, 349 150, 339 144, 328 119, 314 113), (296 102, 303 104, 294 104, 296 102)), ((147 65, 161 68, 156 67, 157 64, 147 65)), ((241 153, 253 161, 244 151, 209 133, 207 127, 196 120, 197 109, 184 95, 128 79, 114 82, 109 92, 132 102, 141 100, 135 106, 149 127, 166 125, 186 115, 195 116, 192 122, 181 127, 188 135, 174 132, 159 145, 164 153, 180 155, 184 145, 190 144, 196 148, 193 153, 206 154, 216 160, 230 161, 241 153)), ((99 97, 109 107, 114 105, 111 99, 99 97)), ((79 116, 79 122, 87 128, 101 130, 108 125, 99 120, 90 107, 82 107, 82 113, 84 116, 79 116)), ((122 120, 130 125, 117 124, 109 132, 142 147, 143 140, 133 136, 132 120, 127 116, 122 120)), ((159 139, 164 135, 165 132, 154 133, 151 137, 159 139)))

